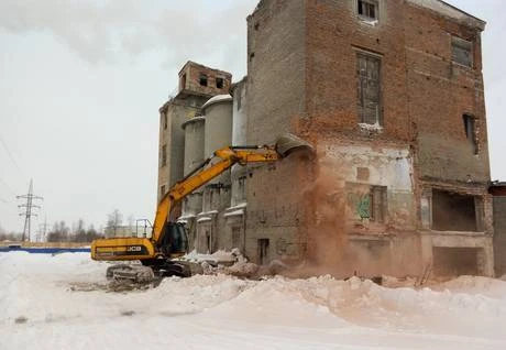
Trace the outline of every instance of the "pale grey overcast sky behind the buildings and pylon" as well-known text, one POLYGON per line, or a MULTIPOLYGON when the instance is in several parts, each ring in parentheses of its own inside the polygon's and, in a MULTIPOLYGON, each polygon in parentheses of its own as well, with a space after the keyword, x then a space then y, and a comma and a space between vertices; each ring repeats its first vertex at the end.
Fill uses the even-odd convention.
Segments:
MULTIPOLYGON (((502 0, 449 0, 483 35, 493 179, 506 181, 502 0)), ((38 220, 153 219, 158 112, 186 61, 246 70, 245 18, 257 0, 0 0, 0 227, 21 231, 16 195, 38 220), (148 3, 148 6, 147 6, 148 3)))

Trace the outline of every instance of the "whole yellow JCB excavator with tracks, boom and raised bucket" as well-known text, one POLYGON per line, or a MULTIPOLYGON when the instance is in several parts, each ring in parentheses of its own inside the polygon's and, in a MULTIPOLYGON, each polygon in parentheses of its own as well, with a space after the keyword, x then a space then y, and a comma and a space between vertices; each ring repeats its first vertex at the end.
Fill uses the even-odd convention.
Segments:
POLYGON ((91 259, 98 261, 141 261, 142 265, 119 264, 110 266, 107 277, 147 283, 167 275, 190 276, 199 272, 199 265, 177 260, 188 252, 188 238, 184 225, 172 222, 175 206, 197 188, 219 176, 234 164, 273 163, 294 151, 312 152, 306 141, 285 134, 275 145, 227 146, 213 153, 200 166, 176 183, 157 206, 150 238, 108 238, 91 243, 91 259))

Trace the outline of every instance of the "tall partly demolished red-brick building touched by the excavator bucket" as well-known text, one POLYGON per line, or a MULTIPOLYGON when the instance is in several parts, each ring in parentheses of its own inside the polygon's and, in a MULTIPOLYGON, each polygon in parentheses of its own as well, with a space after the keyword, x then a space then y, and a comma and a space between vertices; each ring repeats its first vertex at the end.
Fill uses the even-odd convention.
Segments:
POLYGON ((317 156, 233 169, 204 211, 207 249, 343 275, 492 275, 484 26, 439 0, 260 1, 232 140, 290 132, 317 156))

